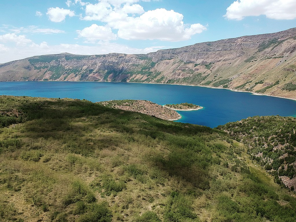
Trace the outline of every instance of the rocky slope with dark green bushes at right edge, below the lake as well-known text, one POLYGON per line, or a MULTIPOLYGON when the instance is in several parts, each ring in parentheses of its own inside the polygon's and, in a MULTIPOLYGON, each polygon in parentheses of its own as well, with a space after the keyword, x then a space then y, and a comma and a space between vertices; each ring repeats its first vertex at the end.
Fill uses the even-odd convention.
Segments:
POLYGON ((255 116, 217 127, 248 146, 252 159, 290 189, 296 188, 296 118, 255 116))

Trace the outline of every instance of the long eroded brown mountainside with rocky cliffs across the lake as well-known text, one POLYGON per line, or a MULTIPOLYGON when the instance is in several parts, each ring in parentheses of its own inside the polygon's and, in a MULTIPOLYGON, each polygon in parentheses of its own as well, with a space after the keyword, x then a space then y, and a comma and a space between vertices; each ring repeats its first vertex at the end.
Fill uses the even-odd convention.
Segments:
POLYGON ((147 55, 43 55, 0 65, 0 81, 191 84, 296 99, 296 28, 147 55))

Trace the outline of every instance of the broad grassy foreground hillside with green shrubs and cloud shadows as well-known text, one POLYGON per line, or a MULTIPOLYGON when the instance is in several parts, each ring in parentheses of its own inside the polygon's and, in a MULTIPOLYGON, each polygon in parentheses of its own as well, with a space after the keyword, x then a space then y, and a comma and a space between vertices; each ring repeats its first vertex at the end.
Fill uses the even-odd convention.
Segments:
POLYGON ((0 97, 1 221, 289 221, 224 132, 87 100, 0 97))

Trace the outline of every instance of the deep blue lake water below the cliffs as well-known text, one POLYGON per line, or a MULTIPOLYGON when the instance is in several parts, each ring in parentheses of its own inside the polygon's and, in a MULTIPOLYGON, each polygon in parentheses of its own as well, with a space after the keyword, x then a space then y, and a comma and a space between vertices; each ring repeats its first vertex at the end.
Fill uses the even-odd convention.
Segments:
POLYGON ((226 89, 117 82, 0 82, 0 95, 78 98, 92 102, 139 99, 160 105, 193 103, 197 111, 178 111, 178 122, 216 127, 248 116, 295 116, 296 101, 226 89))

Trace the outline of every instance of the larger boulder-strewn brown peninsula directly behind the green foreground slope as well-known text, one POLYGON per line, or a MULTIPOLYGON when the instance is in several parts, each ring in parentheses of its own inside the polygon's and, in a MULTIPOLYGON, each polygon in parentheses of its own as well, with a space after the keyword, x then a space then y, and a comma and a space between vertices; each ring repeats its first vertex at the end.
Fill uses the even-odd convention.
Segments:
POLYGON ((165 120, 173 121, 182 118, 181 115, 178 114, 175 110, 158 105, 156 103, 152 103, 148 100, 110 100, 97 103, 109 108, 143 113, 165 120))

